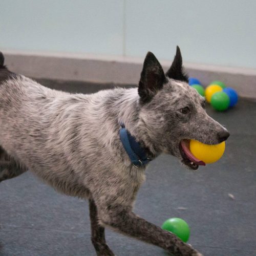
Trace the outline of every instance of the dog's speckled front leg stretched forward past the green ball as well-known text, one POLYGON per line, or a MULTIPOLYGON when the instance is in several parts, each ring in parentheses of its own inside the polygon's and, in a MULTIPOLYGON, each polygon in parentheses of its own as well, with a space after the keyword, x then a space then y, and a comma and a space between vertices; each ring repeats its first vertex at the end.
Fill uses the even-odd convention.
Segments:
POLYGON ((190 245, 182 242, 175 234, 138 217, 130 207, 109 205, 101 209, 100 221, 123 234, 160 246, 174 255, 202 255, 190 245))

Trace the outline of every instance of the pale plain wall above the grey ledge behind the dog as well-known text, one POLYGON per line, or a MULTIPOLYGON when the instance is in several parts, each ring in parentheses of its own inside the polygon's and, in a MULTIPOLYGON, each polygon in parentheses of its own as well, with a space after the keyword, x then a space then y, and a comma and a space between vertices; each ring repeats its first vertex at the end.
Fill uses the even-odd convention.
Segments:
POLYGON ((254 0, 1 0, 0 49, 256 68, 254 0))

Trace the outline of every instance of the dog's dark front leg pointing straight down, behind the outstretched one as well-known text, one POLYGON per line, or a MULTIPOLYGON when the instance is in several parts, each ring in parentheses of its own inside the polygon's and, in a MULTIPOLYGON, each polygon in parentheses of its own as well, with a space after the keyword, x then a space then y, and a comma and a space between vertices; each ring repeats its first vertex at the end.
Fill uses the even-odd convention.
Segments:
POLYGON ((105 241, 105 228, 100 226, 98 223, 98 212, 97 206, 93 199, 89 200, 90 204, 90 219, 91 219, 91 234, 92 243, 98 256, 114 256, 115 254, 111 251, 105 241))

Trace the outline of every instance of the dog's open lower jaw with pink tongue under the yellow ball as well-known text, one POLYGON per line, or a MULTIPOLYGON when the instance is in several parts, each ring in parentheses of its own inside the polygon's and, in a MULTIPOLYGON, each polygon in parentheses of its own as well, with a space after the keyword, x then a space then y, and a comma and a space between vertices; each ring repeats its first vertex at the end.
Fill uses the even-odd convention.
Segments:
POLYGON ((205 162, 197 159, 189 150, 189 140, 184 139, 179 144, 180 154, 183 158, 183 163, 191 169, 198 169, 199 165, 205 165, 205 162))

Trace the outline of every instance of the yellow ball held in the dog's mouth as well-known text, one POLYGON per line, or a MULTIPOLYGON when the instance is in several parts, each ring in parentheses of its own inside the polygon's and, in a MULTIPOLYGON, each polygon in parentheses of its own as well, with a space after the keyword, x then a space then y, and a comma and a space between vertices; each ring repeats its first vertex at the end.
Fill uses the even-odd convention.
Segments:
POLYGON ((197 140, 190 140, 189 150, 199 160, 205 163, 214 163, 224 154, 225 141, 216 145, 208 145, 197 140))

